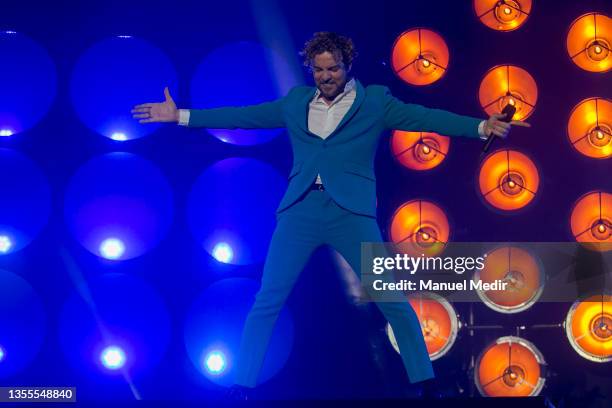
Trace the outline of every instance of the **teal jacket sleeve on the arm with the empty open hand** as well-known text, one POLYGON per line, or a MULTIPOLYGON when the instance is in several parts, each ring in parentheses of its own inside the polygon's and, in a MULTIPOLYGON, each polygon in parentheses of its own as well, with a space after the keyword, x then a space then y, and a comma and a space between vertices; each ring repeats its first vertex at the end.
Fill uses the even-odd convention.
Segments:
POLYGON ((212 109, 190 109, 189 127, 212 129, 264 129, 285 127, 280 98, 257 105, 212 109))

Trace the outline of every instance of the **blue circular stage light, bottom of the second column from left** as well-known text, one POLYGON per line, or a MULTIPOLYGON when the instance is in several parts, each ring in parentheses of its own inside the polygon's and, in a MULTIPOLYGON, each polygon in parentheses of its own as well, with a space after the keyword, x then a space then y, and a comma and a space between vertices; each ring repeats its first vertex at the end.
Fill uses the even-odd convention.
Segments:
POLYGON ((77 370, 140 375, 152 372, 166 352, 170 316, 147 282, 110 273, 77 282, 61 309, 58 333, 66 360, 77 370))

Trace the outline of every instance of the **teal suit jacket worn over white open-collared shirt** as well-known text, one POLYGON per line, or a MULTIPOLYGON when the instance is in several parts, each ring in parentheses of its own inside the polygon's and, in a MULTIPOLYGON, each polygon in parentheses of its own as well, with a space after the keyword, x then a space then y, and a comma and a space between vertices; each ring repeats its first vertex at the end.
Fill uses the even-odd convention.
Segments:
POLYGON ((478 138, 482 119, 400 101, 387 87, 363 87, 338 127, 326 138, 308 130, 308 105, 316 88, 297 86, 280 99, 258 105, 190 111, 190 127, 257 129, 285 127, 293 149, 289 186, 276 212, 295 203, 321 174, 338 205, 376 217, 374 156, 383 131, 436 132, 478 138))

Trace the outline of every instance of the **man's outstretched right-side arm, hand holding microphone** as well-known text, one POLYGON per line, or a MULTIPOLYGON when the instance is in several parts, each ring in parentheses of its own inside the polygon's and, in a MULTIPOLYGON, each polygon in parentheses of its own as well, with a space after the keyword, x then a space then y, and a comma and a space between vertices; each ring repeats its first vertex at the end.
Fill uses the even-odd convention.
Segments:
POLYGON ((442 109, 431 109, 422 105, 404 103, 391 95, 388 88, 384 87, 383 92, 384 120, 385 127, 388 129, 436 132, 445 136, 484 138, 491 134, 506 137, 511 125, 530 126, 520 121, 502 122, 500 119, 505 115, 500 114, 491 115, 489 119, 482 120, 442 109))

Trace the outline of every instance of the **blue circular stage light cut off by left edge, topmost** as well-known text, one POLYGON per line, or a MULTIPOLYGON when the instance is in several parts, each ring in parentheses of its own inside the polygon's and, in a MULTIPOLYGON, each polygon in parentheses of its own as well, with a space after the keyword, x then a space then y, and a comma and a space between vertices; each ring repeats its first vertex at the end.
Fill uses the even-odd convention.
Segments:
POLYGON ((55 99, 57 74, 47 51, 23 34, 0 31, 0 136, 34 127, 55 99))

